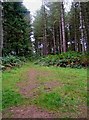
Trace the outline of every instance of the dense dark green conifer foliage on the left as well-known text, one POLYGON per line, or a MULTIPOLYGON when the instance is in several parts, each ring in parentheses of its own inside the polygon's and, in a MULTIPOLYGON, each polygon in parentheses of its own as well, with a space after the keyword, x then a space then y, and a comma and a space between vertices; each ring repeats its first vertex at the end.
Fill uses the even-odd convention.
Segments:
POLYGON ((3 55, 31 54, 30 12, 21 2, 3 2, 3 55))

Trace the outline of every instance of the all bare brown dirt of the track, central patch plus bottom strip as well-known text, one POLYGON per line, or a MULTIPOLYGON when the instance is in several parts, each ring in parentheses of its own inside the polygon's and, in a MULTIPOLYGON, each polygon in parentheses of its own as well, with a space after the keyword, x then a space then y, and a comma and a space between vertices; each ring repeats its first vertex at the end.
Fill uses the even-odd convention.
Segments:
MULTIPOLYGON (((28 72, 28 79, 22 82, 19 82, 17 86, 19 87, 19 93, 25 98, 33 99, 40 95, 39 88, 41 86, 44 87, 46 92, 51 91, 53 88, 57 86, 62 86, 63 84, 53 80, 48 82, 39 82, 37 80, 37 76, 50 76, 51 73, 47 73, 44 71, 37 71, 36 69, 31 69, 28 72)), ((3 118, 63 118, 64 116, 72 116, 74 118, 85 118, 87 116, 87 108, 79 106, 80 115, 79 114, 71 114, 71 113, 55 113, 35 105, 23 105, 18 107, 10 107, 6 111, 3 112, 3 118)))

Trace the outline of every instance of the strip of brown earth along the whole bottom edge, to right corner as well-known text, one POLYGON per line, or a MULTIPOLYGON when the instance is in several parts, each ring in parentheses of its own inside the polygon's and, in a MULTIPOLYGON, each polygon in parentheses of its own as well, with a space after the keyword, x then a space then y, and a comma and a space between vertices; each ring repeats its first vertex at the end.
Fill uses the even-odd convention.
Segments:
POLYGON ((48 111, 40 107, 29 105, 29 106, 18 106, 10 107, 5 110, 2 114, 3 118, 87 118, 87 107, 81 105, 78 107, 78 112, 61 112, 61 111, 48 111))

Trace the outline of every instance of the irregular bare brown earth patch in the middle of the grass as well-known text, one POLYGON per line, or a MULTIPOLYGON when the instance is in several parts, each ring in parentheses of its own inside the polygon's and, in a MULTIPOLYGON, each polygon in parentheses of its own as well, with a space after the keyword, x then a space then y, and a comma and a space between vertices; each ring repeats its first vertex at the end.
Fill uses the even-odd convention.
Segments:
POLYGON ((45 71, 38 71, 35 69, 31 69, 28 72, 28 79, 22 82, 19 82, 17 86, 19 87, 19 92, 26 98, 33 98, 40 94, 39 88, 43 87, 44 90, 51 91, 53 88, 62 85, 62 83, 52 80, 48 82, 40 82, 37 80, 38 76, 50 76, 51 73, 45 72, 45 71))

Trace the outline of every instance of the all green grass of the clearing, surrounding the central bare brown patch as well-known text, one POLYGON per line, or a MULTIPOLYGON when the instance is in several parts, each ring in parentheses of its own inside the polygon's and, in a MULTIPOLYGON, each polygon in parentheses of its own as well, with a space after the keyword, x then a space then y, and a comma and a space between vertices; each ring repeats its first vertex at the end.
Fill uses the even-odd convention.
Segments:
POLYGON ((87 102, 87 69, 43 67, 26 63, 21 68, 3 72, 3 108, 20 104, 36 104, 37 106, 62 112, 75 112, 78 105, 87 102), (50 75, 37 76, 39 83, 58 81, 62 84, 46 92, 44 85, 39 87, 40 94, 37 98, 23 98, 18 93, 16 83, 27 79, 26 73, 34 68, 38 71, 46 71, 50 75))

